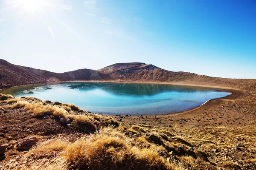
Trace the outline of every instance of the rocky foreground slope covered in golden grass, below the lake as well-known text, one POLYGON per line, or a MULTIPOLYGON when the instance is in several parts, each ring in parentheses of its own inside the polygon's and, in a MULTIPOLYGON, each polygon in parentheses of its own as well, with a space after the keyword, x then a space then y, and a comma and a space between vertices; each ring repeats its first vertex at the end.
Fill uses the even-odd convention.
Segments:
POLYGON ((32 97, 0 100, 0 170, 256 169, 255 120, 153 126, 32 97))

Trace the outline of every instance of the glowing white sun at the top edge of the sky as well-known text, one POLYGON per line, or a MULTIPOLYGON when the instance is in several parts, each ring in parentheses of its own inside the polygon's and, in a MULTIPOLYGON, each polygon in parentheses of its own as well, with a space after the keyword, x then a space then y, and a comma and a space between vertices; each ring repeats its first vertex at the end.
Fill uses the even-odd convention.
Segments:
POLYGON ((41 12, 46 5, 46 0, 18 0, 18 6, 28 13, 41 12))

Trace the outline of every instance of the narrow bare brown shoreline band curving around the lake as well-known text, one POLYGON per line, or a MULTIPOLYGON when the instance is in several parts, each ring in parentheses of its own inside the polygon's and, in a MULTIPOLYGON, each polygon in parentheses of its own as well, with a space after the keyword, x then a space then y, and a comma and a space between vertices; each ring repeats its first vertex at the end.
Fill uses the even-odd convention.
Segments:
MULTIPOLYGON (((181 114, 189 113, 198 109, 204 109, 204 106, 206 105, 211 105, 211 103, 217 99, 236 99, 241 94, 243 94, 243 90, 235 89, 235 88, 228 88, 228 87, 223 87, 223 86, 214 86, 214 85, 196 85, 196 84, 189 84, 189 83, 179 83, 179 82, 136 82, 136 81, 109 81, 109 80, 103 80, 103 81, 97 81, 97 80, 78 80, 78 81, 62 81, 62 82, 49 82, 49 83, 43 83, 43 84, 33 84, 33 85, 19 85, 19 86, 13 86, 11 88, 20 88, 20 87, 26 87, 26 86, 37 86, 37 85, 52 85, 52 84, 60 84, 60 83, 65 83, 65 82, 110 82, 110 83, 143 83, 143 84, 166 84, 166 85, 180 85, 180 86, 190 86, 190 87, 201 87, 201 88, 213 88, 213 89, 221 89, 221 90, 226 90, 228 92, 231 92, 230 95, 221 97, 221 98, 215 98, 215 99, 210 99, 204 104, 199 105, 195 108, 191 108, 186 111, 180 111, 180 112, 175 112, 175 113, 166 113, 166 114, 161 114, 161 115, 151 115, 151 116, 166 116, 166 115, 172 115, 172 116, 178 116, 181 114), (235 94, 240 94, 240 95, 235 95, 235 94)), ((7 89, 2 89, 2 90, 8 90, 11 88, 7 89)), ((132 115, 132 116, 140 116, 140 115, 132 115)), ((145 115, 144 115, 145 116, 145 115)), ((149 115, 148 115, 149 116, 149 115)))

